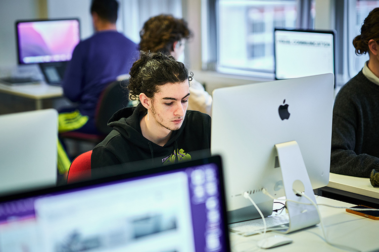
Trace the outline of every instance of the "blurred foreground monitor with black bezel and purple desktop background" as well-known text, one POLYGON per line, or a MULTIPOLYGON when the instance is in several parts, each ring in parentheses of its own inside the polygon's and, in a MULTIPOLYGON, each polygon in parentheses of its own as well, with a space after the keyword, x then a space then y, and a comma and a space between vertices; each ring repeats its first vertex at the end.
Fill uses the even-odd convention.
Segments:
POLYGON ((229 251, 219 157, 0 198, 0 251, 229 251))

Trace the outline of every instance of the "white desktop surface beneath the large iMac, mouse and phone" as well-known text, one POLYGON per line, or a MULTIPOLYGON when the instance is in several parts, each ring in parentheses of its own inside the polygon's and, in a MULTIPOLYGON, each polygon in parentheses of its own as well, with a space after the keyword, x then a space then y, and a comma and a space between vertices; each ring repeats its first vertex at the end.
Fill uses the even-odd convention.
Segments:
MULTIPOLYGON (((333 206, 349 207, 351 204, 335 201, 323 197, 316 198, 317 203, 329 204, 333 206)), ((319 206, 324 222, 325 233, 328 240, 337 244, 344 244, 357 248, 361 251, 379 251, 378 231, 379 221, 360 217, 347 213, 345 209, 329 208, 319 206)), ((278 234, 268 232, 267 236, 278 234)), ((230 233, 230 243, 232 251, 344 251, 340 248, 329 245, 324 241, 320 224, 300 231, 287 234, 294 241, 291 244, 261 249, 257 247, 257 242, 262 238, 261 234, 249 237, 230 233)))

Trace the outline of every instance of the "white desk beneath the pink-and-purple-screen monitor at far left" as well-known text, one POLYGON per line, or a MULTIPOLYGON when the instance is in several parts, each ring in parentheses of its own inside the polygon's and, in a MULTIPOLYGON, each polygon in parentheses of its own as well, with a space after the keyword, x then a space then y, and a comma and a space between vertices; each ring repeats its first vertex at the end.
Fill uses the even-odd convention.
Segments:
POLYGON ((42 109, 42 100, 63 97, 63 89, 44 82, 38 84, 6 85, 0 83, 0 92, 34 100, 35 109, 42 109))

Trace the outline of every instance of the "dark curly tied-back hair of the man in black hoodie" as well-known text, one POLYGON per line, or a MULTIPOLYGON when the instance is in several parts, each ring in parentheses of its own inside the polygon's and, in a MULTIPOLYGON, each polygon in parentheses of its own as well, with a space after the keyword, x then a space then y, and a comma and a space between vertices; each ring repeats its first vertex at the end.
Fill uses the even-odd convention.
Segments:
POLYGON ((140 51, 139 58, 130 69, 129 86, 130 99, 139 100, 139 94, 144 93, 153 98, 158 92, 158 86, 166 83, 192 80, 184 64, 176 61, 173 56, 158 52, 140 51))

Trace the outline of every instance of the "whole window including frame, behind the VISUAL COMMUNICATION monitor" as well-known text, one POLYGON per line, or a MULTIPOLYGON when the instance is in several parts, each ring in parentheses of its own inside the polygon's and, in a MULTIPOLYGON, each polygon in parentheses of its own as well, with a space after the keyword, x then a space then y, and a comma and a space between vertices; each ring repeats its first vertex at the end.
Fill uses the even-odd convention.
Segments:
MULTIPOLYGON (((302 26, 301 21, 304 17, 311 19, 314 16, 310 11, 311 1, 306 0, 209 2, 210 18, 214 16, 215 22, 211 20, 208 29, 216 30, 209 43, 216 46, 208 46, 203 65, 216 66, 217 71, 231 74, 272 78, 274 28, 311 28, 310 25, 302 26), (304 8, 303 3, 308 3, 309 8, 304 8), (300 11, 305 9, 306 15, 300 11)), ((308 23, 313 24, 313 21, 308 23)))

